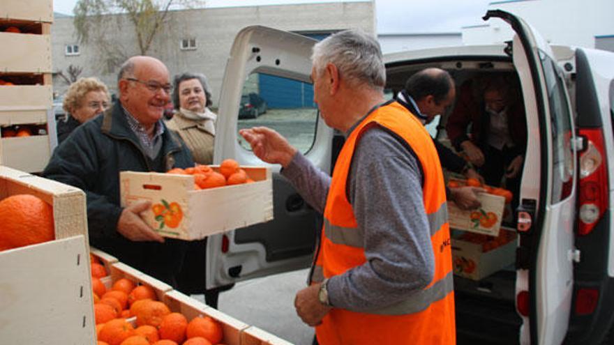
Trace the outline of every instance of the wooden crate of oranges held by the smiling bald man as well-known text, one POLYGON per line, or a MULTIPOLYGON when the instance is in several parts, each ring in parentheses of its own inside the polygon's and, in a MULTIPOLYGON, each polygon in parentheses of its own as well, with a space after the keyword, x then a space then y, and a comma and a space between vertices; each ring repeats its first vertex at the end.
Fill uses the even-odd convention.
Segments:
POLYGON ((197 240, 273 219, 273 183, 266 167, 199 165, 166 174, 122 171, 121 206, 151 201, 142 213, 160 235, 197 240))

